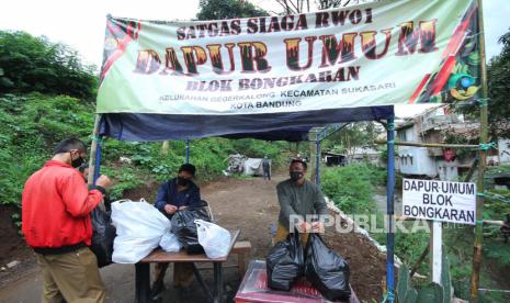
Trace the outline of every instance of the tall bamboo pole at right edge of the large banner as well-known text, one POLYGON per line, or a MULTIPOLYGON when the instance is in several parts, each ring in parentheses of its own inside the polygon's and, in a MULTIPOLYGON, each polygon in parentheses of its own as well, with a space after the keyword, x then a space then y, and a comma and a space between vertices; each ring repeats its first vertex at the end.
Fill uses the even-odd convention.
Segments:
MULTIPOLYGON (((486 66, 486 54, 485 54, 485 33, 484 33, 484 10, 483 0, 477 0, 478 4, 478 31, 479 31, 479 45, 480 45, 480 65, 481 65, 481 98, 487 100, 488 87, 487 87, 487 66, 486 66)), ((481 102, 480 110, 480 144, 487 144, 488 139, 488 110, 487 102, 481 102)), ((479 149, 479 164, 478 164, 478 181, 476 184, 477 192, 484 193, 485 184, 484 177, 487 165, 487 150, 479 149)), ((473 273, 471 277, 471 302, 478 302, 478 288, 480 279, 480 265, 481 265, 481 249, 483 249, 483 222, 481 215, 484 212, 484 195, 478 194, 476 198, 476 227, 475 227, 475 244, 473 251, 473 273)))

